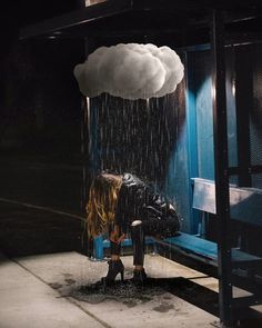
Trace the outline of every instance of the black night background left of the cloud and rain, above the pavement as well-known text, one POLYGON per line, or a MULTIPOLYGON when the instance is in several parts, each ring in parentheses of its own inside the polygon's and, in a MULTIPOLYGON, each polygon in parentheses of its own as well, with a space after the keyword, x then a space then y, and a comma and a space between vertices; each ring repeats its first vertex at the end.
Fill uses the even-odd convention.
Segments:
POLYGON ((84 59, 83 40, 19 41, 22 27, 80 2, 1 1, 0 250, 11 256, 83 250, 82 222, 70 217, 84 216, 81 96, 72 73, 84 59))

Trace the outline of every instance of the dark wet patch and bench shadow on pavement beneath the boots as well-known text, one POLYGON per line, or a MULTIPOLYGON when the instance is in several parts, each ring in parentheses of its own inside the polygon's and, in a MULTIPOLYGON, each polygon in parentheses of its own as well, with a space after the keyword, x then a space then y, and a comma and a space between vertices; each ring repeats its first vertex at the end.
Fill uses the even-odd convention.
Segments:
POLYGON ((90 304, 114 300, 128 307, 135 307, 139 304, 153 300, 154 297, 163 296, 165 301, 155 306, 153 310, 168 312, 174 309, 174 305, 170 302, 172 297, 168 296, 167 292, 179 296, 210 314, 219 316, 218 294, 182 277, 148 278, 142 285, 134 284, 132 279, 124 280, 123 282, 117 281, 111 286, 104 285, 103 281, 98 281, 81 286, 79 289, 73 290, 71 296, 90 304))

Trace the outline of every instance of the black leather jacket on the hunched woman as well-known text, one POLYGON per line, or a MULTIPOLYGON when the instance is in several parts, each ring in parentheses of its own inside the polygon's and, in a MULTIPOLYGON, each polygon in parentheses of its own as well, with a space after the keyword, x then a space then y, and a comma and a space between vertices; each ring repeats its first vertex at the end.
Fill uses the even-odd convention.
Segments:
POLYGON ((124 173, 119 191, 115 222, 122 232, 134 220, 141 220, 145 235, 171 237, 180 227, 179 218, 170 202, 151 191, 149 186, 131 173, 124 173))

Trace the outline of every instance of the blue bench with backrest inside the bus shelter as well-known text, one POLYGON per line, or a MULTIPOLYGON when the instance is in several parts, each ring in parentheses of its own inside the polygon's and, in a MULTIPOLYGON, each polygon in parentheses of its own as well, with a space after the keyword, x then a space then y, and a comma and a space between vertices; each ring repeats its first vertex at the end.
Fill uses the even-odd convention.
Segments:
MULTIPOLYGON (((193 208, 215 215, 214 181, 195 178, 193 182, 193 208)), ((254 188, 230 187, 231 216, 234 220, 262 226, 262 191, 254 188)), ((218 246, 215 242, 199 236, 179 232, 178 236, 163 240, 147 238, 147 243, 161 245, 170 250, 184 254, 205 264, 218 266, 218 246)), ((125 239, 123 246, 131 246, 125 239)), ((109 240, 99 237, 94 240, 94 258, 103 259, 103 250, 110 246, 109 240)), ((246 254, 240 249, 232 249, 232 265, 244 267, 262 264, 262 258, 246 254)))

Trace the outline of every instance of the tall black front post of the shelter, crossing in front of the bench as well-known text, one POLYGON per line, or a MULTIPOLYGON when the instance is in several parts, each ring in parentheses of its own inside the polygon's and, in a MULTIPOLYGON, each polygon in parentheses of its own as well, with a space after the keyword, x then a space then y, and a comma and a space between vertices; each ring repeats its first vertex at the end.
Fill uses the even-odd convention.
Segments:
POLYGON ((211 49, 213 57, 213 131, 215 166, 215 205, 219 218, 218 272, 222 326, 232 324, 232 270, 230 246, 229 158, 223 12, 212 11, 211 49))

